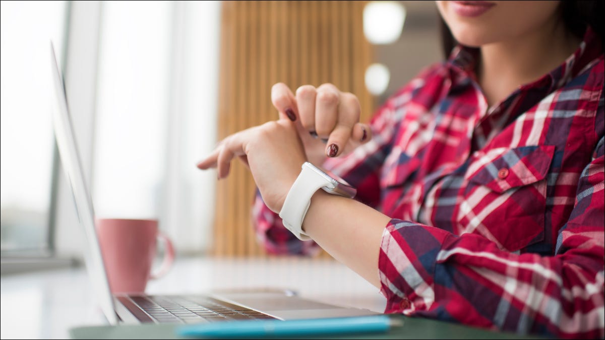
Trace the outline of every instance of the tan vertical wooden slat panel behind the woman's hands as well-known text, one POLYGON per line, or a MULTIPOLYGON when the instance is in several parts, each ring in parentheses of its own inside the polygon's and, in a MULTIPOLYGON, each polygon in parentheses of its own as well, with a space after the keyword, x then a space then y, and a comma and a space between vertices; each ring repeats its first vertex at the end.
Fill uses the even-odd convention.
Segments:
MULTIPOLYGON (((292 91, 332 82, 355 93, 367 120, 373 106, 364 71, 371 46, 362 31, 363 1, 224 1, 218 137, 277 119, 274 83, 292 91)), ((214 254, 264 255, 250 220, 255 192, 240 162, 217 186, 214 254)))

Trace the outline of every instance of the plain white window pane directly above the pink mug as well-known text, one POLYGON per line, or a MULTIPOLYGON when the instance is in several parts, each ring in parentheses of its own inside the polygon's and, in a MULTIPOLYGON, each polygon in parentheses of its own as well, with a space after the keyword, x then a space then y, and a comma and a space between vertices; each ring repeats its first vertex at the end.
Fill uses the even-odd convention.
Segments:
POLYGON ((101 217, 159 217, 171 118, 170 12, 166 1, 103 4, 93 161, 101 217))

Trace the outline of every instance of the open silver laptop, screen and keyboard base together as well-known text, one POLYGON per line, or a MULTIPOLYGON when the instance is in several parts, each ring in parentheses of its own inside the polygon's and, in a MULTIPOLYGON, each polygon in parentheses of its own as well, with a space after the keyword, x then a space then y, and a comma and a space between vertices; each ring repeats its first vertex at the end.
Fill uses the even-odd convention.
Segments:
MULTIPOLYGON (((379 313, 334 306, 301 298, 287 290, 214 292, 207 295, 112 295, 94 225, 93 200, 82 171, 63 73, 51 42, 51 68, 55 90, 53 128, 59 155, 71 186, 80 226, 87 241, 84 260, 93 292, 111 325, 139 323, 203 323, 241 319, 306 319, 379 313)), ((243 287, 245 288, 245 287, 243 287)))

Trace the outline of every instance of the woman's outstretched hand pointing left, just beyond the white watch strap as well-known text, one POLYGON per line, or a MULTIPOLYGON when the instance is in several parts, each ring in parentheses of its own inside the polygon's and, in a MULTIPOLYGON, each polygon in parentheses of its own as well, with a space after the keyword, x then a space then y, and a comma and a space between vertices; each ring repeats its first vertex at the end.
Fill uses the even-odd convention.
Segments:
POLYGON ((264 203, 273 212, 280 212, 302 163, 307 160, 297 126, 302 129, 298 122, 281 119, 232 134, 197 167, 217 168, 220 179, 229 175, 231 160, 239 157, 252 172, 264 203))

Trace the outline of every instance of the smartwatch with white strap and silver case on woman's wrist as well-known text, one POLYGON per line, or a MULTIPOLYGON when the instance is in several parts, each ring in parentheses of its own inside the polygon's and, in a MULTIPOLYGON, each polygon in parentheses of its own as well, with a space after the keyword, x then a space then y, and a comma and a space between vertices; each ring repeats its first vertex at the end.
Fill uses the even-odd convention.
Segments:
POLYGON ((315 165, 305 162, 302 165, 301 173, 286 195, 286 200, 280 211, 284 226, 300 240, 311 239, 302 231, 302 221, 304 221, 307 210, 309 210, 311 197, 319 188, 329 194, 347 198, 353 198, 357 193, 357 190, 342 178, 328 175, 315 165))

